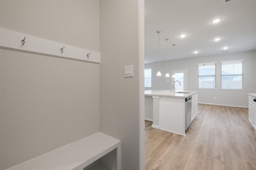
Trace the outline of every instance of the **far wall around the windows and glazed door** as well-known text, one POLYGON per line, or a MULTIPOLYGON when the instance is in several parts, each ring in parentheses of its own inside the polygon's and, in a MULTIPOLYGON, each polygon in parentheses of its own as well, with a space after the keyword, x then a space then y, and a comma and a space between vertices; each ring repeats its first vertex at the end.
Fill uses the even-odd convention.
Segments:
MULTIPOLYGON (((232 53, 226 55, 216 55, 175 61, 175 69, 187 69, 187 90, 198 91, 198 102, 207 104, 217 104, 225 106, 248 107, 247 93, 254 93, 256 90, 256 72, 255 72, 255 51, 244 53, 232 53), (244 59, 244 89, 245 91, 225 91, 220 90, 220 61, 229 61, 244 59), (216 63, 216 88, 217 90, 197 90, 197 64, 198 63, 216 63), (216 100, 214 100, 216 97, 216 100)), ((152 88, 170 90, 171 78, 165 76, 156 76, 158 71, 158 63, 145 64, 145 68, 152 68, 152 88), (166 82, 169 80, 169 82, 166 82)), ((169 62, 169 70, 171 73, 173 61, 169 62)), ((160 63, 160 71, 166 73, 166 62, 160 63)), ((148 88, 145 88, 148 90, 148 88)))

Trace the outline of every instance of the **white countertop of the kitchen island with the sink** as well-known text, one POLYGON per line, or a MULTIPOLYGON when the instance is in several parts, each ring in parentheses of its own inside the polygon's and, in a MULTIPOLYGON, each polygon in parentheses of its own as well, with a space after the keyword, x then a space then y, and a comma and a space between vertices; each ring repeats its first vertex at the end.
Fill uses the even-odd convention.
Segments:
POLYGON ((187 98, 196 94, 197 91, 182 91, 182 92, 190 92, 190 93, 175 93, 172 90, 145 90, 145 96, 162 96, 162 97, 174 97, 174 98, 187 98))

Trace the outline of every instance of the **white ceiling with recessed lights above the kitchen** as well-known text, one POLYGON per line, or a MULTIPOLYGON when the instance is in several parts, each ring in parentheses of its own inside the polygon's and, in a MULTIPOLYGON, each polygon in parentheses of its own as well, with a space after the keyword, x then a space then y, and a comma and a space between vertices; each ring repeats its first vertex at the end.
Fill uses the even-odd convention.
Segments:
POLYGON ((160 61, 166 61, 166 38, 169 60, 172 44, 175 60, 256 50, 256 0, 145 0, 145 63, 158 62, 159 30, 160 61), (211 23, 214 18, 222 20, 211 23))

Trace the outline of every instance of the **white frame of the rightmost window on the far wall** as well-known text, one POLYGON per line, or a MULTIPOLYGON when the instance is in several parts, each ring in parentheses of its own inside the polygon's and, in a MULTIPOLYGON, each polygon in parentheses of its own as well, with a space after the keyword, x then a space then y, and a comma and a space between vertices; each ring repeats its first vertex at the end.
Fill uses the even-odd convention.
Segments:
POLYGON ((230 61, 220 61, 220 90, 234 90, 234 91, 244 91, 244 59, 240 60, 230 60, 230 61), (230 76, 242 76, 242 88, 222 88, 222 76, 228 76, 228 74, 222 75, 222 63, 242 63, 242 74, 230 74, 230 76))

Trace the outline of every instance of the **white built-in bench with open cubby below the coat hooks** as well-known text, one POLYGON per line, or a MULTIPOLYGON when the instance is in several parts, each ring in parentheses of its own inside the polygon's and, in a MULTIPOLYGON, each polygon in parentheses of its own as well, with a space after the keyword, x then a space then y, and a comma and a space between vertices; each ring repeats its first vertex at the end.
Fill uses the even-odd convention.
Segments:
MULTIPOLYGON (((120 170, 121 142, 98 132, 6 170, 84 170, 86 166, 91 165, 93 166, 89 169, 94 170, 100 165, 93 163, 112 151, 115 151, 114 160, 116 160, 113 169, 120 170)), ((112 168, 105 169, 112 170, 112 168)))

